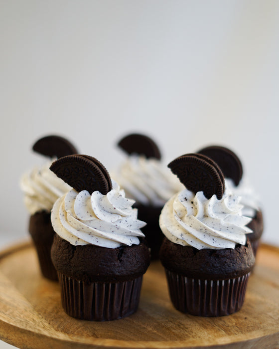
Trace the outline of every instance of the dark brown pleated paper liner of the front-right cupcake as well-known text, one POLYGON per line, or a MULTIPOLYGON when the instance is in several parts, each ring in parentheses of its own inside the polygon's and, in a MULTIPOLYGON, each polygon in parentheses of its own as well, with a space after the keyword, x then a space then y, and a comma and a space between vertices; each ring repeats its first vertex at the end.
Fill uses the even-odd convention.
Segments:
POLYGON ((229 280, 199 280, 165 269, 170 299, 183 313, 198 316, 223 316, 243 305, 250 273, 229 280))

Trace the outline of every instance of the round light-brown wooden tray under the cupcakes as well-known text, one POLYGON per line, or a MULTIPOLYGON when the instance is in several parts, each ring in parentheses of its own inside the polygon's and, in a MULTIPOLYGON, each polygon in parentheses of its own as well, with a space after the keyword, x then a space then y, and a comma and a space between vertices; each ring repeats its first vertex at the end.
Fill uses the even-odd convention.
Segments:
POLYGON ((40 275, 30 242, 0 253, 0 339, 19 348, 279 348, 279 248, 263 244, 242 309, 204 318, 170 303, 164 271, 151 263, 139 310, 122 320, 80 321, 40 275))

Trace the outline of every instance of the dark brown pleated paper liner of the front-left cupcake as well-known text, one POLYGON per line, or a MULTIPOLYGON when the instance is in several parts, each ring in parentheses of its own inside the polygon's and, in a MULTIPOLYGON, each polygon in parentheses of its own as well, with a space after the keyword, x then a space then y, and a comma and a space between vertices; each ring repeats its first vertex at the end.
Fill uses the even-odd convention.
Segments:
POLYGON ((108 321, 135 313, 139 305, 142 276, 119 283, 85 283, 58 272, 62 307, 71 317, 108 321))

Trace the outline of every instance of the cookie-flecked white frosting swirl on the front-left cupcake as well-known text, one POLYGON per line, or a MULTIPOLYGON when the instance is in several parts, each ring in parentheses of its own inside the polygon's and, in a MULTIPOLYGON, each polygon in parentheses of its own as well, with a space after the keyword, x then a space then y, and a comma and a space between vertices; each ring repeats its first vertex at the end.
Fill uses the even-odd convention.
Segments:
POLYGON ((134 200, 125 197, 117 182, 106 195, 71 189, 60 197, 51 212, 54 231, 72 245, 97 245, 116 248, 139 244, 146 223, 137 219, 134 200))

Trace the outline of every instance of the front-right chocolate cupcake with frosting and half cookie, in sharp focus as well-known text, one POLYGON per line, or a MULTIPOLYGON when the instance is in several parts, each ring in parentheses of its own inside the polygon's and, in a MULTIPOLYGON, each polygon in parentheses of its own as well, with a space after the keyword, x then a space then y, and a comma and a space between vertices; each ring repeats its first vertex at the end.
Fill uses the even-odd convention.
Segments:
POLYGON ((223 316, 243 305, 255 263, 240 198, 224 190, 219 167, 201 154, 169 165, 185 188, 164 205, 160 260, 170 299, 183 313, 223 316))

